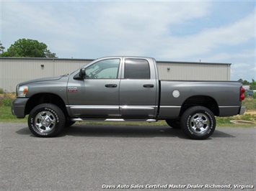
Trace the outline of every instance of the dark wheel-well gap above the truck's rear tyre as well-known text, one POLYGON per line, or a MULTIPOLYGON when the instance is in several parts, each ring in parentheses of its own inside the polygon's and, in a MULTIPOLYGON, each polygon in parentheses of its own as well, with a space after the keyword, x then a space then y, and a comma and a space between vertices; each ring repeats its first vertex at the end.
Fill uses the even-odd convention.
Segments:
POLYGON ((214 98, 211 98, 210 96, 206 96, 206 95, 195 95, 195 96, 191 96, 190 98, 187 98, 182 104, 182 107, 180 108, 179 116, 182 116, 182 114, 187 110, 187 108, 190 108, 193 106, 204 106, 209 110, 211 110, 214 116, 219 116, 218 103, 214 98))

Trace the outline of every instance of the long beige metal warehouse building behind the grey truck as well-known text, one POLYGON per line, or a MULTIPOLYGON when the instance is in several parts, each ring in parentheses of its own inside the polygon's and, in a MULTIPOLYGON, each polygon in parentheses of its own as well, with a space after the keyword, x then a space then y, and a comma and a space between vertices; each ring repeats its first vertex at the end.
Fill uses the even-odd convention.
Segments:
MULTIPOLYGON (((0 57, 0 88, 14 92, 18 83, 71 73, 88 59, 0 57)), ((230 80, 230 63, 157 61, 160 80, 230 80)))

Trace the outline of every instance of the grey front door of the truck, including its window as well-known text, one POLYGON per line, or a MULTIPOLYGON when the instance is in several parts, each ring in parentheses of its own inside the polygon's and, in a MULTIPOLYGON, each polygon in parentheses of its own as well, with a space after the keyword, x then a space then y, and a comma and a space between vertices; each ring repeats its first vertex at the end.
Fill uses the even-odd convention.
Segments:
POLYGON ((85 68, 84 79, 70 79, 69 108, 72 116, 81 118, 118 118, 120 59, 94 62, 85 68))

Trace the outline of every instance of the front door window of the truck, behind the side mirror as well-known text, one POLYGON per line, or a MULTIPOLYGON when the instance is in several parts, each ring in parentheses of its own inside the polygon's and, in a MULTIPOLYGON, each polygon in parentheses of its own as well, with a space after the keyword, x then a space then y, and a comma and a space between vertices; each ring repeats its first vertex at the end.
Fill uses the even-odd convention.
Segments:
POLYGON ((116 79, 118 78, 119 59, 101 60, 85 69, 88 79, 116 79))

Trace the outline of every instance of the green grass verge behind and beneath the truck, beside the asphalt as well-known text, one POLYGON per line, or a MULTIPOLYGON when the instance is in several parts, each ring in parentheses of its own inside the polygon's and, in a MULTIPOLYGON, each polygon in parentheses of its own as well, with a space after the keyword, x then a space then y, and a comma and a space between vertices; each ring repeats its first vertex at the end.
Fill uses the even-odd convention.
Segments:
MULTIPOLYGON (((256 99, 246 98, 243 101, 243 106, 247 107, 248 111, 256 111, 256 99)), ((232 117, 216 117, 216 126, 230 126, 230 127, 255 127, 255 124, 232 124, 231 120, 244 120, 256 122, 256 113, 244 113, 242 116, 232 117)), ((10 106, 0 105, 0 122, 4 123, 27 123, 27 116, 25 118, 16 118, 12 116, 10 106)), ((165 121, 160 120, 156 123, 140 123, 140 122, 81 122, 81 124, 101 124, 112 126, 167 126, 165 121)))

